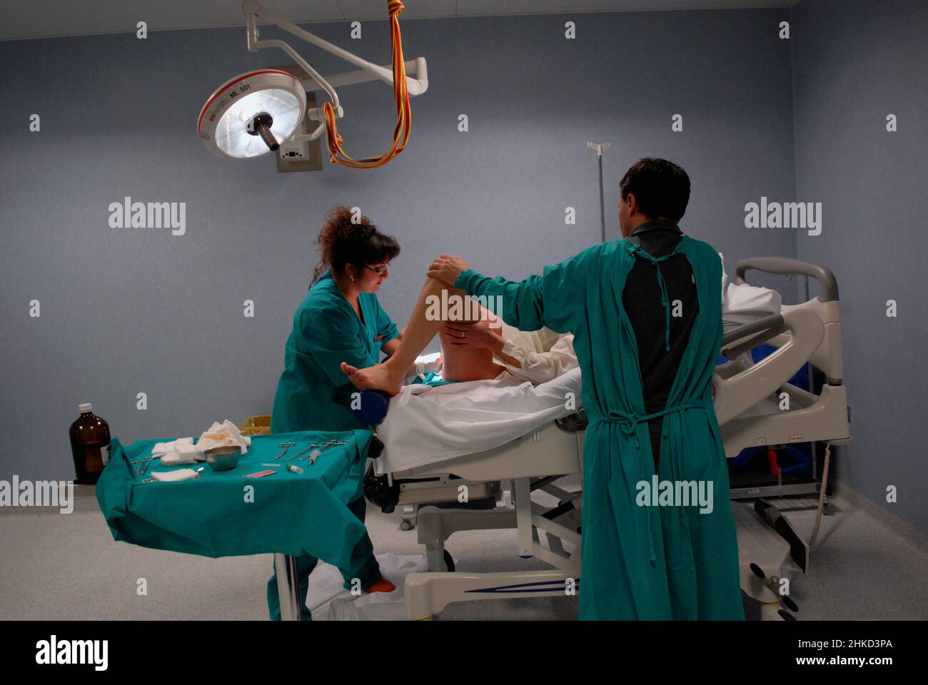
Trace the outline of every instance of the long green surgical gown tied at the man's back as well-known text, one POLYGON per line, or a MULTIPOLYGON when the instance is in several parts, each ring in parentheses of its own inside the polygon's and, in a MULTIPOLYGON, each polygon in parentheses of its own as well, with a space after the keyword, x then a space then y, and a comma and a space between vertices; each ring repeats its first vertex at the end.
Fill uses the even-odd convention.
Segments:
MULTIPOLYGON (((669 329, 671 303, 660 268, 654 270, 669 329)), ((470 269, 455 282, 471 295, 501 295, 502 318, 510 326, 574 333, 590 418, 583 461, 582 619, 744 618, 728 468, 712 404, 722 342, 721 277, 715 248, 684 236, 660 258, 616 240, 519 283, 470 269), (696 279, 699 315, 666 409, 646 414, 638 343, 622 292, 636 259, 657 266, 680 252, 696 279), (660 481, 707 483, 711 512, 698 505, 638 506, 637 484, 651 483, 655 475, 647 421, 662 415, 660 481)))

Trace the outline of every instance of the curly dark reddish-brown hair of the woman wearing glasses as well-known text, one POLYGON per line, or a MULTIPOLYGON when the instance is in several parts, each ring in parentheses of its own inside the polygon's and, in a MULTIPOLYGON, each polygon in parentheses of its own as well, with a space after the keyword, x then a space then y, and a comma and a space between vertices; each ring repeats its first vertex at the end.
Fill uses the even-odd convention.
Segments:
POLYGON ((353 224, 353 216, 351 209, 342 206, 332 207, 326 215, 325 226, 316 239, 322 260, 316 266, 310 288, 326 269, 333 276, 342 278, 345 265, 362 269, 367 265, 389 262, 400 253, 400 245, 393 236, 380 233, 367 216, 353 224))

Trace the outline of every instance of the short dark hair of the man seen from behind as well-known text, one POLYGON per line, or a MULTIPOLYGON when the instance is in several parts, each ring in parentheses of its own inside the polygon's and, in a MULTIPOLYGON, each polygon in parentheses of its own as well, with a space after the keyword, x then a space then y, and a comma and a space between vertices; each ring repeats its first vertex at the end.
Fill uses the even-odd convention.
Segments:
POLYGON ((619 182, 619 192, 638 201, 638 211, 649 219, 665 216, 678 223, 690 202, 690 176, 674 162, 646 157, 632 164, 619 182))

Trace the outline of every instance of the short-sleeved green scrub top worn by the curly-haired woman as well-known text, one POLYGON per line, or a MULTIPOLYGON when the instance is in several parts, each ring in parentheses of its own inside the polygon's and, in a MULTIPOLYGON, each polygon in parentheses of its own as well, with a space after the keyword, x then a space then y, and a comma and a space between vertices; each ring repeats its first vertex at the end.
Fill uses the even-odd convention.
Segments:
POLYGON ((306 294, 293 315, 271 411, 271 433, 368 427, 349 408, 354 386, 341 364, 374 366, 380 360, 380 346, 398 337, 399 331, 376 294, 362 292, 358 303, 363 322, 329 271, 306 294))

